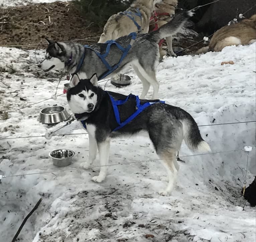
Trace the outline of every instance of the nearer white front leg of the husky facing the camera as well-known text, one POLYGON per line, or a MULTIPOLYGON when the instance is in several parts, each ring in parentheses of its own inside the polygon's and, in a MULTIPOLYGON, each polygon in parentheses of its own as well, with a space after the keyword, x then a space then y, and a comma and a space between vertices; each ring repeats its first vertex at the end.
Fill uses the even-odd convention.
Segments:
POLYGON ((102 182, 107 175, 107 165, 109 160, 109 146, 110 138, 107 138, 103 142, 98 142, 98 150, 100 155, 100 174, 92 178, 95 182, 102 182))

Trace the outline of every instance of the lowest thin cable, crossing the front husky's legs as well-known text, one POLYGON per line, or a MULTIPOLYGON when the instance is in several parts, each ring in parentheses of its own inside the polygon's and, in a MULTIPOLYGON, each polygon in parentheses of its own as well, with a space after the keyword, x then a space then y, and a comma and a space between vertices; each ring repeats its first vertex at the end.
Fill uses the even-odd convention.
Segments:
MULTIPOLYGON (((200 156, 200 155, 212 155, 212 154, 221 154, 221 153, 229 153, 229 152, 236 152, 236 151, 243 151, 244 149, 240 150, 227 150, 227 151, 218 151, 218 152, 209 152, 209 153, 202 153, 202 154, 196 154, 196 155, 183 155, 179 156, 179 158, 185 158, 185 157, 193 157, 193 156, 200 156)), ((169 157, 164 158, 165 160, 169 159, 176 159, 177 157, 169 157)), ((100 167, 108 167, 108 166, 117 166, 117 165, 129 165, 129 164, 135 164, 135 163, 142 163, 142 162, 152 162, 152 161, 158 161, 163 159, 153 159, 153 160, 142 160, 142 161, 131 161, 131 162, 125 162, 125 163, 114 163, 114 164, 108 164, 103 166, 92 166, 90 168, 100 168, 100 167)), ((63 171, 76 171, 76 170, 83 170, 85 168, 79 167, 79 168, 71 168, 71 169, 63 169, 63 170, 53 170, 53 171, 43 171, 43 172, 34 172, 34 173, 27 173, 27 174, 19 174, 19 175, 10 175, 10 176, 3 176, 3 178, 9 178, 9 177, 17 177, 17 176, 28 176, 28 175, 37 175, 37 174, 45 174, 45 173, 53 173, 53 172, 63 172, 63 171)))

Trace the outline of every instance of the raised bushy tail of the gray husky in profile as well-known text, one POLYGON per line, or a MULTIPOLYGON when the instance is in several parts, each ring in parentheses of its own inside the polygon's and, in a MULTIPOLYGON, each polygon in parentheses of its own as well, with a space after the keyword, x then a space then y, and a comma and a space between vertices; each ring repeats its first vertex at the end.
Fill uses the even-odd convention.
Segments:
POLYGON ((162 25, 158 30, 150 32, 152 37, 158 42, 160 39, 174 35, 180 31, 189 17, 193 16, 191 11, 181 11, 174 15, 173 19, 162 25))

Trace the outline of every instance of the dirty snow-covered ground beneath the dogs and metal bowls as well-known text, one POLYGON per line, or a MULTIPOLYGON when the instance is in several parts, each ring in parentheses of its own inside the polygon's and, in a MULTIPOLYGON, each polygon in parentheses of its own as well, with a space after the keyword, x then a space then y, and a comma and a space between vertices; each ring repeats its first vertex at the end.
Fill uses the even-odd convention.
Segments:
MULTIPOLYGON (((157 71, 159 97, 188 111, 199 125, 253 121, 255 53, 254 43, 226 47, 220 53, 165 59, 157 71), (235 64, 221 65, 222 61, 235 64)), ((10 112, 50 98, 58 73, 45 77, 34 63, 33 51, 0 48, 0 54, 2 81, 10 86, 0 83, 0 110, 7 110, 9 115, 0 120, 1 138, 44 135, 65 124, 49 126, 38 121, 40 110, 47 106, 63 105, 70 111, 65 95, 10 112)), ((130 86, 119 89, 108 82, 106 90, 140 94, 141 82, 133 72, 129 75, 130 86)), ((57 94, 62 93, 66 82, 61 81, 57 94)), ((213 152, 255 147, 255 123, 205 126, 200 130, 213 152)), ((10 241, 40 197, 43 200, 26 222, 19 241, 255 241, 255 208, 246 203, 243 211, 245 200, 240 195, 245 151, 183 158, 176 189, 171 196, 163 197, 157 193, 166 186, 160 179, 166 174, 159 161, 110 166, 101 184, 91 181, 97 168, 56 172, 58 168, 48 158, 53 149, 67 148, 76 153, 73 164, 62 170, 79 168, 80 162, 87 159, 88 136, 76 135, 83 132, 75 121, 58 131, 74 135, 54 136, 51 140, 0 140, 0 174, 50 171, 2 179, 0 241, 10 241), (154 237, 146 238, 147 234, 154 237)), ((180 156, 191 154, 182 146, 180 156)), ((110 164, 157 158, 145 137, 111 142, 110 164)), ((249 156, 247 184, 252 182, 255 169, 254 149, 249 156)))

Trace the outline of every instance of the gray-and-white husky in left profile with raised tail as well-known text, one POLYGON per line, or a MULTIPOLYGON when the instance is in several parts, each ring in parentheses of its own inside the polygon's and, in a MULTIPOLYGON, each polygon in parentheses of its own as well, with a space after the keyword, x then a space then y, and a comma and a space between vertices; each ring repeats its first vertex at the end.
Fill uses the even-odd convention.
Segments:
MULTIPOLYGON (((189 11, 180 12, 174 16, 172 21, 161 26, 158 30, 147 34, 138 34, 134 43, 132 43, 130 36, 116 39, 116 42, 124 48, 127 48, 129 44, 132 44, 132 46, 123 61, 111 74, 116 75, 125 67, 132 65, 143 84, 140 98, 145 98, 150 84, 153 86, 153 98, 157 98, 159 83, 155 72, 159 63, 158 42, 160 39, 178 32, 188 17, 192 15, 193 13, 189 11)), ((46 57, 38 64, 38 67, 44 71, 65 68, 71 74, 78 73, 81 78, 87 79, 94 73, 97 73, 98 77, 100 77, 108 70, 94 51, 96 50, 101 54, 106 53, 108 46, 106 43, 93 44, 91 47, 94 50, 92 50, 74 42, 47 41, 49 45, 46 49, 46 57)), ((119 63, 122 54, 123 52, 115 44, 112 44, 105 59, 112 67, 119 63)))

